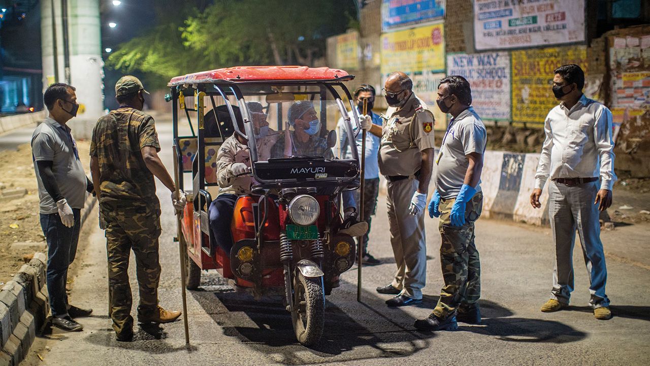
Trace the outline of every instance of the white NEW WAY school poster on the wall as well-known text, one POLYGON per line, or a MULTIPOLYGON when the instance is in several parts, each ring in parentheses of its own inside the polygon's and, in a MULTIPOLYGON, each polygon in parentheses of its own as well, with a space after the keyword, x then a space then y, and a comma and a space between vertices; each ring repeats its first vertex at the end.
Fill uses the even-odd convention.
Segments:
POLYGON ((484 120, 510 120, 510 55, 448 53, 447 75, 460 75, 472 88, 472 106, 484 120))

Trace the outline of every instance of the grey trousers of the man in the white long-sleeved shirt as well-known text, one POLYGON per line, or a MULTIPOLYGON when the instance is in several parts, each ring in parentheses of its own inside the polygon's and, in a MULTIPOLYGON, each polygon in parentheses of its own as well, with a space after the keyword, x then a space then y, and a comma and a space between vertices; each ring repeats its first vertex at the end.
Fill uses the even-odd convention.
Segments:
POLYGON ((593 204, 600 182, 565 186, 549 183, 549 219, 555 242, 555 268, 551 298, 569 303, 573 291, 573 245, 578 231, 589 275, 591 307, 609 306, 605 294, 607 268, 601 242, 598 205, 593 204))

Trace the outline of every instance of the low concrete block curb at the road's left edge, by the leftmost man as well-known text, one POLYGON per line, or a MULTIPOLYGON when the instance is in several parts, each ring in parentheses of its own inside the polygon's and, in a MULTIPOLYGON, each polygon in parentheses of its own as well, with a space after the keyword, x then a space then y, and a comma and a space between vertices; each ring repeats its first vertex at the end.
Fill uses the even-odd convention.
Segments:
MULTIPOLYGON (((97 199, 88 195, 81 212, 81 227, 97 199)), ((47 255, 36 252, 0 290, 0 366, 18 366, 29 353, 49 314, 45 268, 47 255)))

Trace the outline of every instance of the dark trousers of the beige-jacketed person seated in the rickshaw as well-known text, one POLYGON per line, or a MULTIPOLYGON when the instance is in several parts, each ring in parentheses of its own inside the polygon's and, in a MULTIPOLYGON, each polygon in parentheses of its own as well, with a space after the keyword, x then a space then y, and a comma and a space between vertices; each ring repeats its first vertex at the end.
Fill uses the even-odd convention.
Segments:
POLYGON ((233 234, 230 232, 230 225, 233 221, 235 203, 237 203, 237 195, 224 193, 216 196, 208 208, 210 242, 213 245, 216 243, 228 255, 233 247, 233 234))

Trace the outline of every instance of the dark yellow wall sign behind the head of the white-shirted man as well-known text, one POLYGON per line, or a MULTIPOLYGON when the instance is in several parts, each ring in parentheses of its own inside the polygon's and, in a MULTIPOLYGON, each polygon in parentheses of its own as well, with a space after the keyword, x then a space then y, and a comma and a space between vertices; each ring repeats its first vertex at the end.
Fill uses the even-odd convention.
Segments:
POLYGON ((558 105, 553 96, 553 71, 563 64, 578 64, 588 74, 586 46, 512 51, 512 120, 528 127, 543 127, 546 115, 558 105))

